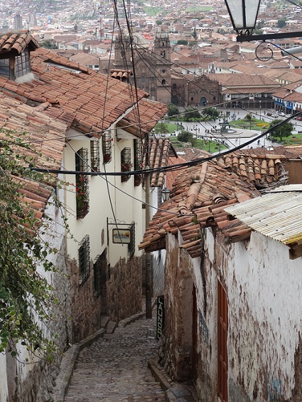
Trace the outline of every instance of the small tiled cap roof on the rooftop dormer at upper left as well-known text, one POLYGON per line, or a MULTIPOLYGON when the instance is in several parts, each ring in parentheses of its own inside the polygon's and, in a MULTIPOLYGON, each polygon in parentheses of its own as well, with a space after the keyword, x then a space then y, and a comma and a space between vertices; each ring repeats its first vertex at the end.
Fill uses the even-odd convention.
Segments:
POLYGON ((38 42, 27 31, 18 33, 4 33, 0 36, 0 53, 9 53, 11 51, 20 54, 27 46, 32 49, 38 48, 38 42))

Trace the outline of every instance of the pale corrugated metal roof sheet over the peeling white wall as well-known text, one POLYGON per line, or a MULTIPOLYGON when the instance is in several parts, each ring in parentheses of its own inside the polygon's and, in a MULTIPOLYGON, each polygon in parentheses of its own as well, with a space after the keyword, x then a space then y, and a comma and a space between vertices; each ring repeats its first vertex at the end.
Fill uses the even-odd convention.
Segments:
POLYGON ((298 191, 302 187, 282 188, 225 208, 225 211, 264 236, 286 245, 302 243, 302 192, 298 191))

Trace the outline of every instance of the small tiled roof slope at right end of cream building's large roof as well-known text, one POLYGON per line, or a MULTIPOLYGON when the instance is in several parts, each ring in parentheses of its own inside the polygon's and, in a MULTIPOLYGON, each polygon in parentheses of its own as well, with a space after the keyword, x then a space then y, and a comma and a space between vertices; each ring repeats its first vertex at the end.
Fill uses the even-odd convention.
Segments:
POLYGON ((126 117, 119 121, 118 127, 123 127, 136 137, 144 138, 167 111, 168 107, 163 103, 141 99, 139 106, 136 105, 126 117), (142 116, 144 116, 143 120, 141 120, 142 116))

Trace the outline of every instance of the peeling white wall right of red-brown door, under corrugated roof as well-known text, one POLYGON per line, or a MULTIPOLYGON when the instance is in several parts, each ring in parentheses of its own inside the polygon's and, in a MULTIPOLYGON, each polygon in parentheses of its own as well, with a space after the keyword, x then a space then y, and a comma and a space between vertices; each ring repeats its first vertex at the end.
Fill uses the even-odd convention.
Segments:
POLYGON ((290 260, 286 245, 254 232, 246 247, 235 243, 230 251, 229 379, 236 384, 241 375, 250 398, 256 383, 259 400, 266 393, 268 401, 288 399, 302 324, 301 258, 290 260))

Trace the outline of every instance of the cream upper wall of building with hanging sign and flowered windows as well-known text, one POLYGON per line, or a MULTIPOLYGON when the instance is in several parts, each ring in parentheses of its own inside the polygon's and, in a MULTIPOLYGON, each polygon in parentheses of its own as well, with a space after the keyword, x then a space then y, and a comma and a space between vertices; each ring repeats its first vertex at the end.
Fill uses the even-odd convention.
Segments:
MULTIPOLYGON (((112 162, 105 165, 106 171, 120 171, 120 153, 124 147, 131 148, 131 160, 134 162, 133 138, 117 140, 114 137, 114 141, 112 142, 112 162)), ((75 169, 75 152, 78 149, 83 147, 88 149, 90 153, 90 140, 92 139, 83 139, 83 137, 79 137, 79 139, 75 137, 75 139, 70 140, 67 147, 65 147, 63 165, 65 169, 75 169)), ((100 168, 104 171, 101 141, 99 141, 99 145, 101 147, 100 168)), ((65 205, 68 208, 68 224, 70 232, 75 238, 68 238, 68 254, 71 258, 77 260, 78 243, 86 235, 90 235, 90 255, 92 260, 95 260, 97 255, 101 254, 107 245, 109 250, 108 258, 111 265, 115 265, 119 258, 127 258, 127 245, 112 243, 112 228, 114 226, 109 225, 107 233, 107 218, 109 218, 110 223, 114 223, 114 218, 118 223, 136 222, 136 255, 141 254, 137 245, 143 236, 144 213, 142 211, 141 200, 144 199, 144 196, 142 186, 134 187, 133 176, 126 183, 121 182, 120 176, 107 176, 108 186, 104 176, 91 176, 89 186, 90 211, 82 219, 76 218, 75 176, 63 175, 63 179, 71 184, 65 194, 65 205), (102 231, 104 233, 104 243, 101 241, 102 231)))

